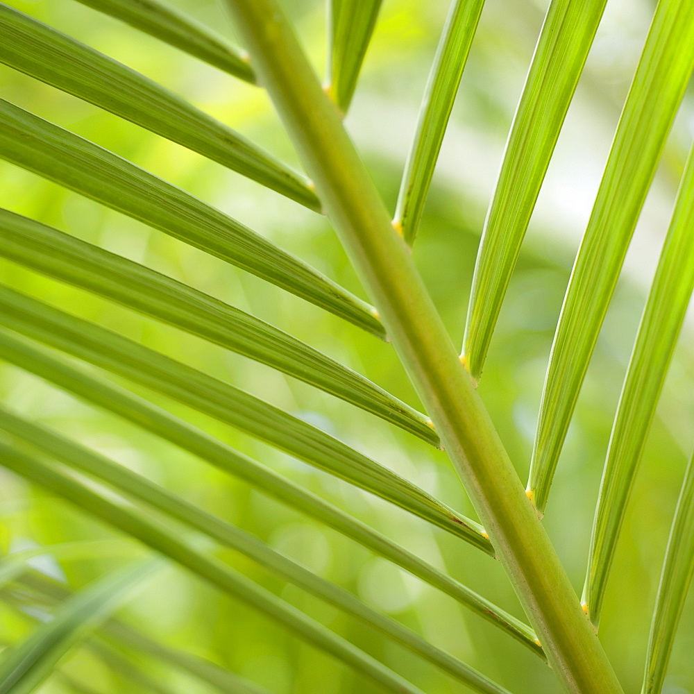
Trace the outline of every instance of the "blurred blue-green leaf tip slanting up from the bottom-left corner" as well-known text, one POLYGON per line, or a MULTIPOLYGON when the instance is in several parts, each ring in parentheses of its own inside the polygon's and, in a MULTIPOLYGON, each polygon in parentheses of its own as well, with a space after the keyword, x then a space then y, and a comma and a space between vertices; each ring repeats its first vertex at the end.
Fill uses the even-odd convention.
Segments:
MULTIPOLYGON (((3 464, 5 462, 3 455, 3 464)), ((0 694, 34 691, 51 675, 60 658, 117 609, 133 588, 159 566, 160 561, 138 561, 74 593, 60 605, 53 619, 37 627, 24 643, 3 654, 0 694)))

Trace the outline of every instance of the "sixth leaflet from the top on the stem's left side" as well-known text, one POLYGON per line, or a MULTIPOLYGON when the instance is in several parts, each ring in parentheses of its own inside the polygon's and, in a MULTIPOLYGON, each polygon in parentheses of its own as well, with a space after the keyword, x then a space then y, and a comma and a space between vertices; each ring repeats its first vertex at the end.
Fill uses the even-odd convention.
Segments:
MULTIPOLYGON (((103 407, 155 436, 180 446, 226 473, 240 477, 263 493, 337 530, 376 555, 392 561, 393 564, 404 568, 455 600, 463 604, 468 604, 471 600, 473 602, 480 600, 479 596, 468 591, 465 586, 373 530, 369 525, 357 521, 356 518, 329 502, 306 491, 302 486, 285 479, 133 393, 105 380, 97 380, 86 375, 83 371, 78 371, 65 362, 46 355, 43 350, 37 350, 24 341, 9 337, 2 331, 0 331, 0 356, 21 369, 26 369, 74 393, 87 403, 103 407)), ((485 541, 480 548, 489 554, 493 553, 489 541, 485 541)), ((520 626, 519 629, 521 629, 520 626)), ((539 652, 539 648, 537 651, 539 652)))

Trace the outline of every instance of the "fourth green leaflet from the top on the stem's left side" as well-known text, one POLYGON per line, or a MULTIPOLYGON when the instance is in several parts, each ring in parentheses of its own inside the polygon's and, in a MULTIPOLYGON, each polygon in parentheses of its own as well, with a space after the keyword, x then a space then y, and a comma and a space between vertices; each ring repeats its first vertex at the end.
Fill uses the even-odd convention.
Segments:
POLYGON ((439 437, 423 414, 268 323, 182 282, 7 210, 0 209, 0 232, 0 256, 273 366, 439 446, 439 437))

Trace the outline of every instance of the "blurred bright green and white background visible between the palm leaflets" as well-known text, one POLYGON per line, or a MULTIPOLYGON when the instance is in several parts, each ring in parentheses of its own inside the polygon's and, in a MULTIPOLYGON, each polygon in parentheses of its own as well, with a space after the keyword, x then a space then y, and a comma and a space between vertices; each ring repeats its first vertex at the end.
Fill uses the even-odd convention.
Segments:
MULTIPOLYGON (((10 4, 121 60, 183 94, 192 103, 298 167, 291 144, 262 90, 215 71, 171 47, 71 0, 10 4)), ((234 32, 213 0, 178 0, 231 40, 234 32)), ((286 0, 316 69, 325 64, 325 8, 319 0, 286 0)), ((462 339, 475 251, 525 71, 546 10, 545 0, 487 0, 452 114, 414 258, 456 344, 462 339)), ((533 217, 523 255, 500 316, 480 393, 521 477, 525 479, 545 366, 561 299, 623 99, 648 31, 653 3, 610 0, 566 119, 533 217)), ((446 0, 385 0, 346 125, 384 198, 394 207, 414 133, 446 0)), ((182 147, 0 66, 2 96, 94 140, 216 205, 364 296, 324 217, 222 169, 182 147)), ((668 226, 684 155, 694 130, 689 94, 668 142, 607 316, 561 457, 545 523, 580 591, 593 507, 611 420, 659 247, 668 226)), ((0 164, 0 205, 99 244, 187 282, 299 337, 412 405, 416 394, 393 350, 312 305, 195 248, 53 183, 0 164)), ((457 509, 472 514, 443 453, 305 384, 226 353, 84 291, 0 261, 3 282, 106 325, 167 355, 208 371, 311 421, 405 475, 457 509)), ((601 622, 601 638, 625 691, 642 677, 650 613, 669 525, 693 443, 694 316, 679 341, 632 497, 601 622)), ((111 378, 107 376, 107 378, 111 378)), ((135 387, 124 383, 126 387, 135 387)), ((121 464, 256 534, 285 555, 353 591, 421 632, 432 643, 518 694, 557 691, 552 673, 452 599, 437 593, 355 543, 309 521, 247 484, 134 426, 88 407, 14 367, 0 365, 3 400, 29 418, 103 452, 121 464)), ((377 527, 435 566, 521 616, 498 563, 452 536, 368 494, 291 459, 176 403, 138 391, 171 412, 247 452, 377 527)), ((135 543, 51 494, 0 469, 3 554, 65 541, 107 539, 82 557, 44 555, 32 566, 72 588, 135 555, 135 543)), ((280 582, 260 566, 219 552, 232 566, 346 636, 431 694, 460 691, 432 666, 384 641, 350 617, 280 582)), ((44 606, 30 613, 42 618, 44 606)), ((205 657, 276 694, 371 694, 378 691, 346 666, 310 648, 242 604, 171 568, 121 612, 124 621, 176 648, 205 657)), ((14 643, 33 623, 0 604, 0 641, 14 643)), ((694 600, 679 629, 666 694, 694 692, 694 600)), ((142 653, 137 672, 174 693, 211 691, 177 668, 142 653)), ((152 691, 146 680, 89 645, 61 669, 103 694, 152 691)), ((71 691, 56 676, 43 693, 71 691)))

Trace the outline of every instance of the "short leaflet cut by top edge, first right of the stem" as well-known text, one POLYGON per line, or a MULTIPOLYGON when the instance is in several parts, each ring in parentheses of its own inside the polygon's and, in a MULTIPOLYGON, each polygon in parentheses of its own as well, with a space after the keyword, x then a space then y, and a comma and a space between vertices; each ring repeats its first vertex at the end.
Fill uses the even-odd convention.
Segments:
POLYGON ((328 77, 325 89, 346 113, 357 87, 382 0, 329 0, 328 77))

